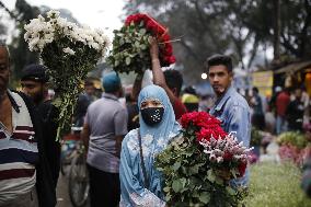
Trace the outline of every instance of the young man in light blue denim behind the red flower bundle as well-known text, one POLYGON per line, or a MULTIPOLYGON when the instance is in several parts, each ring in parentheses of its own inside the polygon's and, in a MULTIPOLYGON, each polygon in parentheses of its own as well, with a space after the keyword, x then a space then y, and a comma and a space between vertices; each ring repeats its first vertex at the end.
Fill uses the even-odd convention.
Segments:
MULTIPOLYGON (((245 147, 251 139, 251 114, 246 100, 231 85, 232 60, 229 56, 215 55, 207 60, 209 82, 216 93, 217 101, 210 114, 221 122, 227 133, 235 133, 239 141, 245 147)), ((247 186, 249 170, 241 179, 232 180, 232 186, 247 186)))

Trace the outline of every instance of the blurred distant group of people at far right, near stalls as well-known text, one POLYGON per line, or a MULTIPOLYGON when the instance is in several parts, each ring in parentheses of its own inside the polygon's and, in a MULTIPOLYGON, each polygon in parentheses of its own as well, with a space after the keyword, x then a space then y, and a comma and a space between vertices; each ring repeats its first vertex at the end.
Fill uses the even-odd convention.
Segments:
POLYGON ((240 92, 249 102, 252 126, 274 135, 285 131, 304 133, 310 125, 311 102, 306 89, 296 87, 275 87, 270 97, 252 91, 240 92))

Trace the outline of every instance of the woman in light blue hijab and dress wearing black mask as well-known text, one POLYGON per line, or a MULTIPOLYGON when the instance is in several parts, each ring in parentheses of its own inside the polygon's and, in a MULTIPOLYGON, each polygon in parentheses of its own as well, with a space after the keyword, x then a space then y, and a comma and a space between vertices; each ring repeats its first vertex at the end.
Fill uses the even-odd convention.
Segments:
POLYGON ((120 207, 164 207, 161 174, 153 165, 154 157, 180 134, 181 127, 169 96, 160 87, 143 88, 138 106, 140 128, 129 131, 122 145, 120 207))

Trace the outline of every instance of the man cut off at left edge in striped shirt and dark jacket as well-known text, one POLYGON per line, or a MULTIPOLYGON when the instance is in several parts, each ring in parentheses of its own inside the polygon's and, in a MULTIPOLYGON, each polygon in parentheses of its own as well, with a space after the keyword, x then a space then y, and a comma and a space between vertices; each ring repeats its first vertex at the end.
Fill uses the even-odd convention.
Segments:
POLYGON ((10 55, 0 43, 0 206, 54 207, 38 114, 26 95, 8 89, 10 55))

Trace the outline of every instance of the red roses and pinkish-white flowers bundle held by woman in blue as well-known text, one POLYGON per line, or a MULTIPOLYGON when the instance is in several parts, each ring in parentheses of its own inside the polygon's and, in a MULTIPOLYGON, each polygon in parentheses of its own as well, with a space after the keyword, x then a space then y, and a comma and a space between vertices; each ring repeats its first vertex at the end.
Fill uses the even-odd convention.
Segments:
POLYGON ((229 180, 244 175, 251 149, 206 112, 187 113, 181 124, 182 135, 156 158, 169 206, 238 205, 243 191, 229 180))

